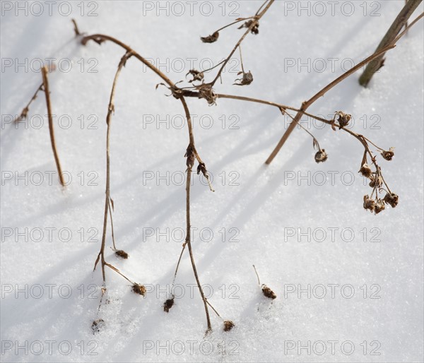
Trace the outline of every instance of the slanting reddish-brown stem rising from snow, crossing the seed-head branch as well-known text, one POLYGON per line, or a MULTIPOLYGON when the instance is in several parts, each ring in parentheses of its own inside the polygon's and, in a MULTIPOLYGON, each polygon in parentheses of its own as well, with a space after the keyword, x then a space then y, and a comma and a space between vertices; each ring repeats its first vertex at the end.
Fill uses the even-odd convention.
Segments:
POLYGON ((394 47, 396 47, 394 44, 390 44, 387 47, 384 47, 383 49, 379 49, 377 52, 375 52, 371 56, 368 56, 367 59, 364 59, 359 64, 357 64, 353 68, 349 69, 348 71, 346 71, 345 73, 343 73, 340 77, 336 78, 334 81, 332 81, 331 83, 329 83, 328 85, 326 85, 324 88, 322 88, 322 90, 319 90, 319 92, 316 93, 315 95, 313 95, 309 100, 303 102, 302 103, 302 107, 300 107, 299 112, 295 115, 295 118, 293 119, 293 121, 288 126, 288 129, 283 134, 283 137, 281 138, 280 141, 278 141, 278 144, 276 145, 276 148, 274 148, 274 150, 271 153, 271 155, 269 155, 268 159, 266 159, 266 162, 265 162, 266 165, 271 164, 273 158, 276 157, 276 155, 278 154, 278 152, 283 147, 285 141, 287 141, 288 137, 290 136, 290 134, 295 129, 295 126, 298 124, 300 118, 302 117, 302 114, 305 113, 306 109, 308 107, 310 107, 310 105, 312 105, 316 100, 318 100, 319 97, 324 96, 324 94, 326 92, 328 92, 329 90, 331 90, 331 88, 333 88, 335 85, 338 85, 338 83, 340 83, 344 79, 348 78, 348 76, 351 76, 351 74, 355 73, 355 71, 358 71, 358 69, 360 69, 362 66, 364 66, 367 63, 369 63, 373 59, 376 59, 378 56, 380 56, 381 54, 384 54, 389 49, 392 49, 394 47))

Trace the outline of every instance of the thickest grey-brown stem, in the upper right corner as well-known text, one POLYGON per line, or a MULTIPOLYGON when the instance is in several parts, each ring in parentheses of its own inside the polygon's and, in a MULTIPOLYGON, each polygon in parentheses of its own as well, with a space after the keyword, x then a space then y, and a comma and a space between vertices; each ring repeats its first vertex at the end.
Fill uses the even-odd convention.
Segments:
MULTIPOLYGON (((394 44, 394 40, 396 39, 396 35, 399 34, 402 28, 406 25, 408 18, 412 15, 412 13, 416 10, 418 5, 420 5, 423 0, 411 0, 407 1, 404 5, 404 8, 399 12, 394 22, 390 25, 389 30, 387 30, 381 42, 379 42, 377 49, 375 52, 380 49, 386 48, 389 44, 394 44)), ((380 54, 374 61, 369 63, 365 68, 365 71, 359 78, 359 84, 367 87, 368 83, 370 83, 372 76, 376 73, 384 64, 384 52, 380 54)))

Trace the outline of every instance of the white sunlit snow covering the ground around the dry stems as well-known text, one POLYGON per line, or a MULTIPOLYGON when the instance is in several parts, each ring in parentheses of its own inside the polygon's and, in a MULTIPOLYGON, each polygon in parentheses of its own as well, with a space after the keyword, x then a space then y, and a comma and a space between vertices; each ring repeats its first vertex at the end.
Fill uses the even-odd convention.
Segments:
MULTIPOLYGON (((177 82, 192 68, 189 59, 196 69, 206 67, 208 59, 216 64, 243 30, 223 30, 214 44, 202 44, 199 36, 254 14, 261 1, 213 1, 210 16, 205 15, 207 1, 192 3, 192 14, 190 2, 177 3, 91 1, 81 3, 81 16, 80 3, 72 2, 71 15, 64 16, 59 2, 50 16, 40 2, 44 11, 35 16, 35 3, 2 1, 1 359, 423 361, 422 20, 387 53, 369 88, 358 85, 358 72, 310 107, 326 117, 348 112, 353 131, 396 148, 394 159, 380 165, 399 194, 399 206, 379 215, 363 209, 363 195, 370 190, 357 173, 363 150, 348 133, 305 119, 303 125, 329 160, 316 164, 310 136, 296 129, 265 166, 289 122, 278 109, 237 100, 219 99, 212 107, 187 100, 197 115, 196 148, 216 190, 211 193, 194 174, 194 258, 209 301, 235 323, 223 332, 223 322, 210 310, 213 333, 206 338, 204 307, 187 251, 177 275, 179 291, 174 291, 182 296, 168 314, 162 307, 185 227, 182 177, 189 140, 185 121, 180 127, 184 112, 180 102, 165 97, 168 90, 155 90, 158 76, 129 59, 118 80, 110 146, 114 233, 129 259, 114 256, 108 230, 106 260, 146 285, 148 294, 134 294, 129 282, 108 269, 107 294, 98 311, 102 273, 99 267, 93 272, 93 266, 102 235, 105 118, 124 51, 110 42, 82 46, 73 37, 71 18, 83 32, 112 35, 156 65, 163 62, 161 70, 177 82), (16 6, 25 4, 28 12, 16 16, 16 6), (176 16, 181 4, 184 15, 176 16), (88 16, 89 11, 97 16, 88 16), (57 174, 52 183, 48 180, 56 167, 45 96, 40 93, 33 102, 28 121, 15 126, 8 116, 19 114, 40 85, 40 73, 31 69, 39 66, 35 59, 49 57, 63 66, 49 74, 49 81, 59 157, 71 177, 65 190, 57 174), (25 59, 28 69, 16 70, 16 62, 25 64, 25 59), (67 59, 72 63, 66 73, 67 59), (36 115, 43 121, 40 128, 36 115), (261 294, 252 264, 261 283, 276 292, 272 303, 261 294), (105 326, 93 334, 95 319, 105 326)), ((353 12, 346 1, 321 3, 324 16, 312 3, 276 1, 261 20, 259 35, 248 35, 242 43, 252 85, 232 85, 240 71, 236 52, 216 91, 300 107, 341 75, 342 66, 350 67, 350 59, 357 64, 373 52, 404 1, 354 1, 353 12), (308 59, 311 69, 298 69, 308 59)), ((412 18, 422 11, 421 4, 412 18)))

